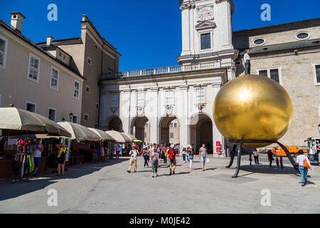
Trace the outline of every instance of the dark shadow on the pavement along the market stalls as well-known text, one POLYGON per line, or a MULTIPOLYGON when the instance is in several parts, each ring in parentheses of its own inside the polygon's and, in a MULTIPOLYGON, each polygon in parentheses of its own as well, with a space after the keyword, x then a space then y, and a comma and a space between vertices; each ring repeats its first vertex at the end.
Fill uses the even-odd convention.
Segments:
POLYGON ((107 167, 110 165, 118 164, 119 162, 127 162, 129 157, 122 158, 119 160, 110 160, 108 162, 102 163, 85 163, 82 165, 71 166, 68 167, 68 171, 65 171, 65 175, 62 177, 58 177, 56 173, 52 173, 51 170, 47 170, 46 172, 38 173, 37 178, 31 178, 30 182, 20 182, 12 183, 11 180, 3 180, 0 182, 0 202, 6 199, 12 199, 15 197, 19 197, 21 195, 26 195, 30 192, 35 192, 38 190, 42 190, 49 185, 53 185, 57 180, 61 179, 75 179, 78 177, 82 177, 85 175, 89 175, 92 172, 96 172, 101 170, 103 167, 107 167))

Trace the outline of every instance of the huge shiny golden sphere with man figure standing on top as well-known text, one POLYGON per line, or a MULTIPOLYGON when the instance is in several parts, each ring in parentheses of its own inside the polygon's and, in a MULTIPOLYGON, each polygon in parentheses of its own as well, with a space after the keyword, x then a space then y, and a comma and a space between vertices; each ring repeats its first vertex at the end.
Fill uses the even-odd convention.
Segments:
MULTIPOLYGON (((277 141, 292 120, 292 102, 286 90, 265 76, 245 75, 220 89, 213 103, 213 118, 228 140, 277 141)), ((270 143, 244 143, 265 147, 270 143)))

